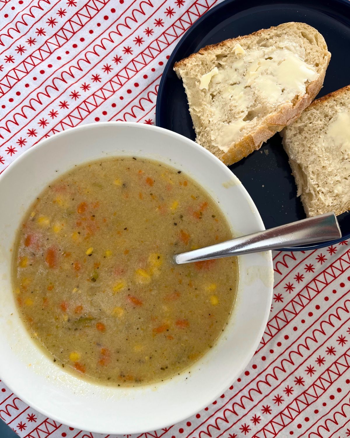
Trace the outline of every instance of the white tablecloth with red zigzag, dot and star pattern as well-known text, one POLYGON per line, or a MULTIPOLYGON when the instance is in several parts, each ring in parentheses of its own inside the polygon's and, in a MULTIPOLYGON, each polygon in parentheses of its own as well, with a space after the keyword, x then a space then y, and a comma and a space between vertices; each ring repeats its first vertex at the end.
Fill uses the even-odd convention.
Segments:
MULTIPOLYGON (((216 3, 0 0, 0 172, 69 127, 153 124, 170 53, 216 3)), ((273 258, 271 315, 245 372, 202 412, 139 437, 350 436, 348 242, 273 258)), ((0 417, 26 438, 105 438, 45 418, 1 381, 0 417)))

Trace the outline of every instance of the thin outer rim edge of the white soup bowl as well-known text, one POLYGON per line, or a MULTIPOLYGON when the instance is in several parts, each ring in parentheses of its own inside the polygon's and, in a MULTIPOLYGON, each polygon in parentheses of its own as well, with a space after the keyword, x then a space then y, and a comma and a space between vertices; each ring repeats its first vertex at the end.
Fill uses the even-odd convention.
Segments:
MULTIPOLYGON (((52 141, 52 138, 58 138, 58 137, 64 137, 66 135, 70 135, 70 133, 72 131, 82 131, 84 129, 87 128, 94 128, 94 129, 98 129, 98 128, 102 128, 105 126, 111 126, 115 125, 115 126, 125 126, 125 127, 133 127, 133 128, 138 128, 138 129, 144 129, 144 130, 151 130, 151 131, 160 131, 163 132, 166 135, 169 135, 173 138, 178 139, 179 141, 184 141, 185 143, 187 143, 189 145, 189 147, 195 148, 199 153, 202 153, 204 155, 207 155, 208 157, 210 157, 210 159, 212 159, 214 162, 217 163, 217 165, 221 166, 221 168, 223 169, 224 172, 230 172, 231 175, 234 175, 234 177, 239 181, 239 179, 235 176, 234 173, 232 173, 228 167, 221 161, 219 160, 215 155, 213 155, 211 152, 209 152, 206 148, 203 148, 202 146, 198 145, 196 142, 190 140, 189 138, 186 138, 184 136, 182 136, 181 134, 177 134, 176 132, 173 131, 169 131, 168 129, 162 128, 162 127, 158 127, 158 126, 154 126, 154 125, 147 125, 147 124, 140 124, 137 122, 123 122, 123 121, 111 121, 111 122, 96 122, 96 123, 89 123, 89 124, 84 124, 81 126, 76 126, 76 127, 72 127, 69 129, 66 129, 65 131, 61 131, 58 132, 57 134, 52 135, 51 137, 48 138, 44 138, 43 140, 39 141, 36 145, 33 145, 31 148, 27 149, 25 152, 23 152, 18 158, 14 159, 13 162, 11 162, 9 164, 9 166, 7 166, 7 168, 0 174, 0 184, 1 184, 1 180, 3 178, 3 175, 6 175, 8 172, 12 171, 15 166, 16 163, 19 163, 21 160, 26 159, 27 155, 30 155, 32 153, 35 153, 36 150, 41 149, 43 147, 45 147, 45 144, 48 143, 49 141, 52 141)), ((246 190, 246 188, 243 186, 243 184, 240 184, 240 190, 244 193, 245 198, 247 199, 247 201, 250 204, 250 207, 252 209, 252 213, 255 217, 255 219, 257 220, 257 222, 259 223, 259 226, 261 227, 261 230, 265 230, 265 226, 264 223, 262 222, 260 213, 258 211, 258 209, 256 208, 252 198, 250 197, 248 191, 246 190)), ((212 403, 214 400, 216 400, 221 394, 223 394, 227 388, 229 387, 230 384, 232 384, 232 382, 234 382, 238 376, 240 374, 242 374, 242 371, 245 369, 245 367, 248 365, 248 363, 250 362, 250 360, 252 359, 252 357, 254 356, 254 353, 257 349, 257 347, 259 346, 259 343, 262 339, 262 336, 265 332, 266 329, 266 324, 268 322, 268 318, 269 318, 269 309, 271 307, 272 304, 272 297, 273 297, 273 261, 272 261, 272 254, 271 251, 267 251, 267 253, 269 254, 269 258, 268 258, 268 265, 269 265, 269 271, 271 274, 271 278, 270 278, 270 294, 269 294, 269 299, 266 302, 266 308, 265 308, 265 315, 264 318, 262 320, 262 324, 260 326, 259 332, 256 334, 255 336, 255 342, 252 343, 252 346, 249 349, 249 352, 247 354, 246 359, 242 362, 241 367, 238 369, 238 371, 235 372, 235 374, 232 374, 232 379, 227 382, 225 385, 221 385, 217 391, 216 391, 216 395, 215 397, 212 397, 210 400, 206 400, 205 403, 200 403, 198 406, 196 406, 193 410, 188 412, 188 415, 186 415, 186 417, 179 417, 179 416, 174 416, 174 418, 172 420, 167 420, 166 422, 163 423, 157 423, 156 421, 154 422, 154 426, 152 426, 151 428, 149 427, 147 431, 153 431, 153 430, 158 430, 164 427, 168 427, 169 425, 172 424, 176 424, 179 423, 180 421, 185 420, 186 418, 192 417, 196 412, 199 412, 200 410, 203 410, 206 406, 208 406, 210 403, 212 403)), ((74 427, 75 429, 80 429, 80 430, 86 430, 86 427, 84 426, 84 424, 80 424, 79 422, 74 423, 74 422, 66 422, 64 419, 59 418, 56 416, 56 413, 54 412, 50 412, 50 410, 45 410, 44 407, 42 406, 38 406, 36 403, 31 403, 31 401, 27 398, 27 397, 21 397, 20 391, 18 392, 16 389, 13 390, 13 386, 11 381, 7 381, 6 376, 0 376, 0 379, 5 383, 5 385, 11 389, 11 391, 19 396, 21 398, 22 401, 24 401, 28 406, 32 407, 33 409, 35 409, 36 411, 38 411, 39 413, 41 413, 42 415, 45 415, 46 417, 58 421, 59 423, 65 424, 68 427, 74 427)), ((101 386, 101 385, 98 385, 101 386)), ((103 385, 102 385, 103 386, 103 385)), ((15 385, 14 385, 15 388, 15 385)), ((140 389, 142 389, 143 387, 141 386, 140 389)), ((88 427, 89 432, 93 432, 93 433, 100 433, 100 434, 137 434, 137 433, 144 433, 147 431, 144 430, 140 430, 140 428, 136 428, 133 430, 128 430, 128 431, 112 431, 109 429, 94 429, 91 427, 88 427)))

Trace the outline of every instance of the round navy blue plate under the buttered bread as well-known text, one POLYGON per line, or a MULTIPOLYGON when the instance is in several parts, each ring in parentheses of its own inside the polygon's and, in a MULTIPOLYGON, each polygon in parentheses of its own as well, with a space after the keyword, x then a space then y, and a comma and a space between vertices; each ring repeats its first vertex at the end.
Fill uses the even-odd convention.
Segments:
MULTIPOLYGON (((302 21, 316 28, 325 38, 332 57, 325 82, 318 97, 350 84, 350 1, 306 0, 302 2, 272 0, 226 0, 210 9, 182 37, 168 60, 158 90, 156 124, 185 137, 195 139, 193 124, 182 81, 173 71, 176 61, 197 52, 201 47, 238 35, 248 35, 287 21, 302 21)), ((259 151, 230 166, 242 181, 257 206, 266 228, 304 219, 305 213, 294 177, 290 174, 287 154, 279 134, 259 151)), ((343 238, 330 242, 284 248, 307 251, 336 244, 350 238, 350 213, 338 216, 343 238)))

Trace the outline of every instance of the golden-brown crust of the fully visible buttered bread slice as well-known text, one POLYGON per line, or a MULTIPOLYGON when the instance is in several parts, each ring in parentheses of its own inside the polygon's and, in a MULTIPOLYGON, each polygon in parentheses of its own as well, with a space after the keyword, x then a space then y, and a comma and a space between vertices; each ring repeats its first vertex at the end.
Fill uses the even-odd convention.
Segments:
MULTIPOLYGON (((189 57, 176 62, 174 65, 174 71, 176 72, 178 77, 181 78, 180 69, 186 67, 187 62, 193 60, 199 54, 204 55, 207 52, 211 52, 217 48, 227 46, 228 42, 231 42, 231 44, 239 43, 247 38, 251 38, 253 35, 258 35, 258 36, 264 35, 267 31, 276 30, 277 28, 280 29, 281 27, 283 28, 283 26, 288 28, 295 24, 300 25, 300 27, 307 27, 308 29, 311 28, 311 26, 306 25, 305 23, 290 22, 290 23, 284 23, 283 25, 280 26, 273 26, 269 29, 261 29, 257 32, 253 32, 250 35, 244 35, 244 36, 239 36, 237 38, 227 39, 217 44, 205 46, 202 49, 200 49, 197 53, 193 53, 192 55, 189 55, 189 57)), ((320 66, 320 69, 318 71, 318 78, 315 79, 315 81, 312 81, 309 84, 307 84, 305 94, 302 96, 298 96, 297 100, 292 105, 290 104, 290 102, 287 102, 282 106, 280 106, 278 111, 269 114, 269 116, 265 117, 265 119, 262 121, 262 124, 260 124, 259 127, 255 128, 255 130, 245 135, 240 141, 231 143, 231 145, 228 148, 228 152, 224 152, 220 148, 217 148, 214 145, 211 145, 211 147, 208 148, 210 152, 212 152, 219 159, 221 159, 221 161, 224 162, 224 164, 226 165, 233 164, 241 160, 242 158, 246 157, 247 155, 251 154, 255 150, 259 149, 262 143, 264 143, 270 137, 272 137, 273 134, 281 131, 284 127, 292 123, 295 119, 297 119, 297 117, 300 116, 302 111, 310 105, 312 100, 315 99, 316 95, 322 88, 323 81, 325 78, 325 71, 328 67, 330 57, 331 54, 328 52, 327 46, 325 45, 323 65, 320 66)), ((198 138, 198 134, 197 134, 196 141, 198 142, 199 140, 200 139, 198 138)))

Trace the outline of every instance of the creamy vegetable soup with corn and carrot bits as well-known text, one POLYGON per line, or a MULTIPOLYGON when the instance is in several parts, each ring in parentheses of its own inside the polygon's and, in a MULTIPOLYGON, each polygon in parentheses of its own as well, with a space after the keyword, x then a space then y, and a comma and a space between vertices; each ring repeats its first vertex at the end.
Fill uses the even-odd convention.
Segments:
POLYGON ((172 256, 230 238, 217 204, 181 171, 133 157, 76 166, 18 231, 18 311, 52 360, 85 379, 171 378, 214 346, 238 283, 236 258, 172 256))

